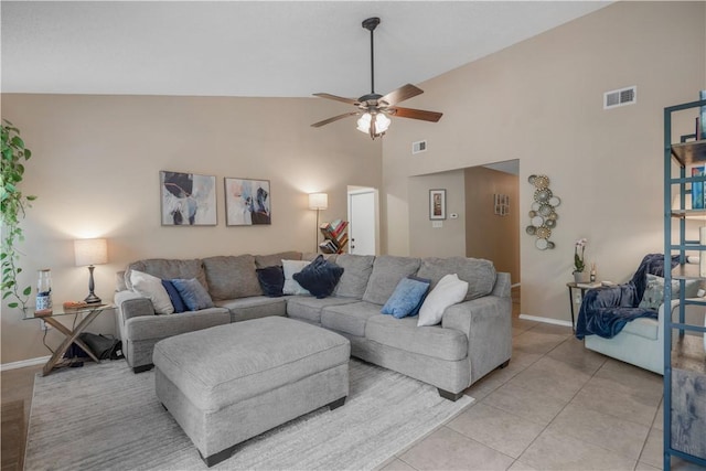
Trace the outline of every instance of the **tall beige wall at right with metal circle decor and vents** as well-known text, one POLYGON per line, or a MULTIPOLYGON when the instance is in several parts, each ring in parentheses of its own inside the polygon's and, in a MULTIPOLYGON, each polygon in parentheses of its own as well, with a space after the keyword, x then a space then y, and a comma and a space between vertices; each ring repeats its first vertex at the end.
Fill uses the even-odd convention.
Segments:
MULTIPOLYGON (((409 254, 418 229, 409 176, 520 159, 520 208, 532 202, 532 173, 547 174, 563 202, 556 249, 521 235, 522 312, 570 319, 565 283, 579 237, 599 278, 628 279, 645 253, 663 250, 663 108, 706 87, 705 6, 613 3, 420 84, 425 94, 405 105, 443 117, 397 119, 385 137, 388 250, 409 254), (602 109, 603 92, 630 85, 635 105, 602 109), (428 151, 411 156, 421 139, 428 151)), ((689 132, 693 118, 683 122, 689 132)))

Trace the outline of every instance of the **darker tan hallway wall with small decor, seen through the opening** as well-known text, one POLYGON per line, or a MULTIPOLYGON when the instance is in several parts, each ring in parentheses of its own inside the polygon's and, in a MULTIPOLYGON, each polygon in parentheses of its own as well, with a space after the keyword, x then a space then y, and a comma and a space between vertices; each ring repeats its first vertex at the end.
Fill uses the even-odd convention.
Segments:
POLYGON ((520 218, 527 211, 517 202, 517 175, 472 167, 466 169, 466 255, 493 260, 498 271, 520 282, 520 218), (495 214, 494 194, 510 196, 510 214, 495 214))

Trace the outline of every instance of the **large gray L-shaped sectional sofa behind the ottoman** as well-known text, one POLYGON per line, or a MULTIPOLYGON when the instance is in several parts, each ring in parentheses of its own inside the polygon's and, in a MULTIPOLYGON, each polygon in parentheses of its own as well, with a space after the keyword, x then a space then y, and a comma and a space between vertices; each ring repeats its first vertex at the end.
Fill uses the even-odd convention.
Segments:
POLYGON ((507 364, 512 353, 510 275, 496 272, 483 259, 333 255, 343 267, 332 296, 266 297, 257 268, 281 260, 313 259, 315 254, 286 251, 203 259, 146 259, 118 274, 115 302, 122 350, 140 372, 152 367, 154 344, 165 338, 211 327, 269 315, 287 315, 329 329, 351 341, 351 354, 431 384, 456 400, 492 370, 507 364), (156 314, 152 302, 132 291, 131 270, 161 279, 195 278, 215 307, 179 314, 156 314), (417 318, 381 313, 400 279, 431 280, 448 274, 469 283, 462 302, 443 311, 440 324, 417 327, 417 318))

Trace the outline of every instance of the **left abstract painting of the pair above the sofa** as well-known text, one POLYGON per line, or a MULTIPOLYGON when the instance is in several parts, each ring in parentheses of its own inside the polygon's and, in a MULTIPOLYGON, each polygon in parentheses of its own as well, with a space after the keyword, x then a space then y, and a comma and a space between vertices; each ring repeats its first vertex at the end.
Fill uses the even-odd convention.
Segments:
POLYGON ((216 178, 159 172, 163 226, 215 226, 216 178))

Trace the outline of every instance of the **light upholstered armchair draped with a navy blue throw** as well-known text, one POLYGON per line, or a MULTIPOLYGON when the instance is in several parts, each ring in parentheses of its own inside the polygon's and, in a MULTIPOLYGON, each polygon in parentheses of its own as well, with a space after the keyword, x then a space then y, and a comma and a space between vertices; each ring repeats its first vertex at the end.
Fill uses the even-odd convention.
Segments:
MULTIPOLYGON (((677 260, 677 256, 672 257, 672 267, 677 260)), ((662 292, 663 297, 663 285, 660 288, 656 277, 664 277, 664 255, 649 254, 627 283, 586 291, 576 338, 584 339, 584 345, 589 350, 663 374, 665 307, 659 295, 662 292)), ((674 282, 674 287, 678 283, 674 282)), ((680 303, 674 287, 668 307, 672 315, 680 303)), ((696 297, 698 289, 697 281, 689 281, 685 297, 696 297)), ((689 311, 689 314, 703 315, 703 308, 700 312, 689 311)))

